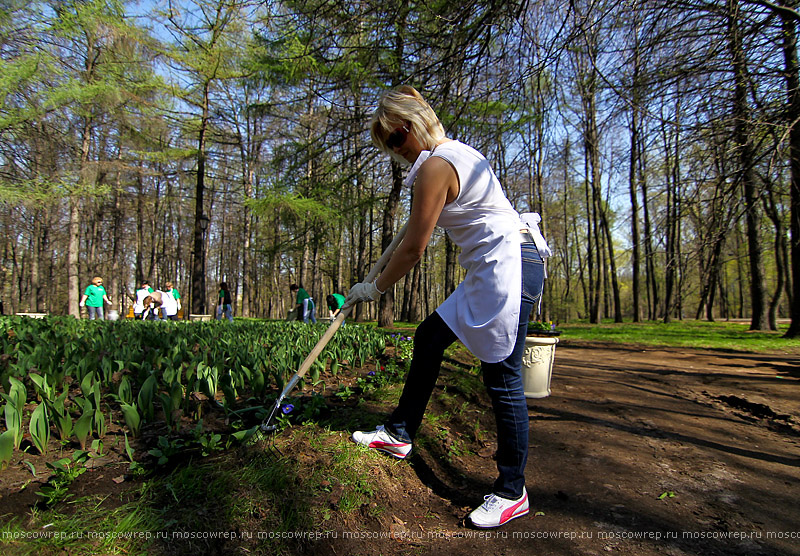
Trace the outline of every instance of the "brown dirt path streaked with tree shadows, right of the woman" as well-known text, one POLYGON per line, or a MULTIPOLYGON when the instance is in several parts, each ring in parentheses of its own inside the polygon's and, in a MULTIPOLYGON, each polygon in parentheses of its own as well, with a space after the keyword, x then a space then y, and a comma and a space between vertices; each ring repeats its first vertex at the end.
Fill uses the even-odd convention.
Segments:
POLYGON ((350 553, 797 554, 798 377, 797 356, 562 342, 552 395, 529 404, 529 516, 463 527, 494 462, 422 453, 383 523, 406 537, 350 553))

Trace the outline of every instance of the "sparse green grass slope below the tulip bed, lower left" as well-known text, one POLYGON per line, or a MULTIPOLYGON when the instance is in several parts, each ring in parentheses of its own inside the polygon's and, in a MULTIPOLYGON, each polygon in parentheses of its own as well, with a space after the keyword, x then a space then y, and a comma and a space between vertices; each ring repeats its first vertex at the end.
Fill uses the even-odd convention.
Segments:
POLYGON ((129 502, 116 507, 107 498, 85 497, 5 521, 0 554, 295 554, 298 541, 279 533, 325 530, 334 517, 383 511, 369 502, 379 489, 379 475, 386 480, 396 462, 316 425, 292 427, 282 435, 281 442, 313 451, 311 469, 256 442, 152 476, 126 496, 129 502), (378 469, 384 471, 376 474, 378 469), (238 538, 191 537, 206 532, 238 538))

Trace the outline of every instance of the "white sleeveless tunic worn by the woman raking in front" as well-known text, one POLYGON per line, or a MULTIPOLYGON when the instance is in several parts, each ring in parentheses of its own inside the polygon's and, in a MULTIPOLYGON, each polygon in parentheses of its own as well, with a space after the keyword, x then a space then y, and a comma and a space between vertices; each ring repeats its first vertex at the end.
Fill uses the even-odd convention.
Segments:
POLYGON ((525 224, 478 151, 450 141, 431 153, 458 174, 458 197, 444 206, 437 225, 461 248, 464 281, 436 311, 478 359, 502 361, 514 348, 522 296, 519 233, 525 224))

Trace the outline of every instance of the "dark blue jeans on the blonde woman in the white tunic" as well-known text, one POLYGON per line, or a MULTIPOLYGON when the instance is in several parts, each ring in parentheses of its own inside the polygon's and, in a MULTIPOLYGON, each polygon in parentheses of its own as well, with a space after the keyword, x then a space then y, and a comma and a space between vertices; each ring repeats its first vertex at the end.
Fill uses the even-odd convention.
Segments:
MULTIPOLYGON (((542 294, 544 263, 533 243, 522 244, 522 298, 517 341, 505 360, 481 362, 483 383, 492 400, 497 425, 497 471, 493 491, 504 498, 519 498, 525 486, 528 461, 528 404, 522 381, 522 355, 531 310, 542 294)), ((444 350, 456 335, 438 313, 432 313, 414 334, 414 356, 397 408, 385 423, 386 429, 405 442, 411 442, 422 423, 444 350)))

